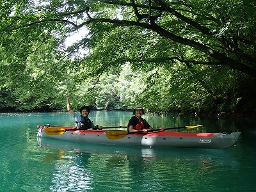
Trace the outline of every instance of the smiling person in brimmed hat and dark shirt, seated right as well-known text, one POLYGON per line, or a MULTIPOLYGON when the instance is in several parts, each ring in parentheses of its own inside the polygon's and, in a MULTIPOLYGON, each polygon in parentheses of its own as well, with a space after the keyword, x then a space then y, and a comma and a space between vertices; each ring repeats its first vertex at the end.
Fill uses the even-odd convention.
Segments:
POLYGON ((148 129, 153 129, 148 122, 141 116, 145 114, 145 110, 142 106, 135 106, 133 109, 134 116, 131 117, 128 123, 128 132, 148 132, 148 129))

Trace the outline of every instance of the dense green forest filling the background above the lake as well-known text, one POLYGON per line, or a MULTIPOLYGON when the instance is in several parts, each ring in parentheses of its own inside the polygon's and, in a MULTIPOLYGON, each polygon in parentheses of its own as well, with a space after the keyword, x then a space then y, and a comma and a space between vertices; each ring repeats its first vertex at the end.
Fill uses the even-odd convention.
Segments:
POLYGON ((0 0, 0 111, 256 114, 256 1, 0 0))

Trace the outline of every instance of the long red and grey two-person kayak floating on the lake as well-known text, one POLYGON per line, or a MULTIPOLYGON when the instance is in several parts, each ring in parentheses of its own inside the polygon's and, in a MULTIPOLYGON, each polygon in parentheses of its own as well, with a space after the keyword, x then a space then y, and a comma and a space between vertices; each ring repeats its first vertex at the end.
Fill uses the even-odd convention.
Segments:
POLYGON ((119 130, 80 130, 74 127, 51 125, 38 125, 37 128, 38 136, 59 140, 109 145, 176 148, 228 148, 236 143, 241 134, 241 132, 174 132, 164 129, 157 129, 147 133, 128 133, 127 131, 119 130))

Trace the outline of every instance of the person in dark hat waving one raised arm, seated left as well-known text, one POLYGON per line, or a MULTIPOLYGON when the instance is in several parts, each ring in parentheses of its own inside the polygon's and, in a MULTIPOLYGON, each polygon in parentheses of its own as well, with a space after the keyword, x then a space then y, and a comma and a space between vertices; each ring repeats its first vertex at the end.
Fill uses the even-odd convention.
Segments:
POLYGON ((70 115, 74 117, 76 120, 76 129, 102 129, 102 126, 94 125, 93 122, 88 118, 88 115, 90 113, 90 108, 88 106, 82 106, 80 108, 81 115, 77 115, 71 108, 70 108, 70 99, 71 95, 67 95, 67 110, 70 115))

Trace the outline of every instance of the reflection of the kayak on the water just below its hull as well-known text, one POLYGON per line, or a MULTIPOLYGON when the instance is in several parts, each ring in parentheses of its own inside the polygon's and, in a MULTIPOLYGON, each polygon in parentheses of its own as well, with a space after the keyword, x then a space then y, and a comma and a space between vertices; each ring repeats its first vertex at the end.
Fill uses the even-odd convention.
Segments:
MULTIPOLYGON (((157 162, 193 162, 202 165, 202 169, 211 168, 211 166, 225 165, 236 167, 239 163, 236 161, 232 150, 215 150, 204 148, 150 148, 140 146, 121 146, 121 145, 102 145, 94 143, 76 143, 71 141, 54 140, 52 138, 38 138, 38 147, 49 150, 46 153, 44 161, 74 159, 77 161, 84 156, 111 156, 116 159, 125 156, 132 159, 157 162), (65 154, 69 154, 68 157, 65 154), (213 165, 213 164, 214 165, 213 165)), ((236 147, 236 146, 235 146, 236 147)))

